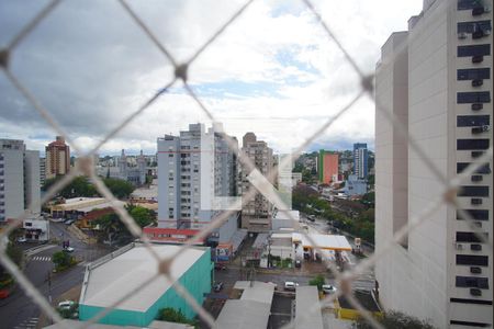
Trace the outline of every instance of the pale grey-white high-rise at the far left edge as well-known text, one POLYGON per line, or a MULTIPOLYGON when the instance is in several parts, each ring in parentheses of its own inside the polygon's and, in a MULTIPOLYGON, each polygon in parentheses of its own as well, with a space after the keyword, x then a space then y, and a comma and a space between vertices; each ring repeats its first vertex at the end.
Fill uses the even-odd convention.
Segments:
POLYGON ((23 140, 0 139, 0 222, 25 209, 40 214, 40 152, 23 140))

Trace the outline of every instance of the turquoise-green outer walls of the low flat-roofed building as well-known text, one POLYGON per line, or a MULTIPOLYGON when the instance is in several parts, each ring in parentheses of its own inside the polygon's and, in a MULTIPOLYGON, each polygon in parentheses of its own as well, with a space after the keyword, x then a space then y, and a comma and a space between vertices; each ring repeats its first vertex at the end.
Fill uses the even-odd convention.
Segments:
MULTIPOLYGON (((204 254, 195 261, 195 263, 183 273, 178 280, 189 293, 198 300, 199 305, 204 302, 204 294, 211 293, 213 263, 211 262, 211 249, 207 248, 204 254)), ((156 319, 159 309, 165 307, 172 307, 180 309, 186 317, 192 319, 195 311, 187 302, 179 296, 179 294, 170 287, 154 305, 146 311, 135 311, 127 309, 114 309, 105 317, 100 319, 99 324, 117 325, 117 326, 148 326, 156 319)), ((79 305, 79 319, 87 321, 96 316, 103 307, 79 305)))

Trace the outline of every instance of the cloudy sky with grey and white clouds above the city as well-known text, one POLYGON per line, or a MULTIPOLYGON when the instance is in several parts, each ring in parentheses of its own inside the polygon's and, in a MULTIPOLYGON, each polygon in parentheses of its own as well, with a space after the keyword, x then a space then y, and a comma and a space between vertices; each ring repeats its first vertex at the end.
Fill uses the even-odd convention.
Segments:
MULTIPOLYGON (((239 0, 128 1, 179 63, 244 3, 239 0)), ((47 1, 0 2, 0 48, 47 1)), ((373 73, 380 48, 407 29, 420 0, 314 0, 332 32, 357 65, 373 73)), ((10 70, 83 151, 89 151, 173 77, 173 67, 117 1, 63 1, 11 54, 10 70)), ((254 132, 277 152, 289 152, 360 90, 336 44, 302 1, 255 1, 190 66, 188 82, 242 140, 254 132)), ((181 82, 105 143, 100 155, 121 149, 156 152, 156 138, 190 123, 210 125, 181 82)), ((0 138, 24 139, 44 151, 55 131, 0 72, 0 138)), ((306 149, 373 148, 374 104, 360 99, 306 149)))

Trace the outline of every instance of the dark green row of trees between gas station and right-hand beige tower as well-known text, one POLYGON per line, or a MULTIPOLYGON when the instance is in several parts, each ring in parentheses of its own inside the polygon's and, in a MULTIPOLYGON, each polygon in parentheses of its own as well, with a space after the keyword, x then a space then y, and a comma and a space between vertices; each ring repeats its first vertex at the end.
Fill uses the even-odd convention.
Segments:
POLYGON ((306 185, 293 189, 292 206, 305 214, 323 217, 334 227, 368 242, 374 242, 374 208, 372 207, 367 209, 362 207, 363 211, 359 211, 358 215, 349 217, 333 209, 327 201, 319 198, 319 194, 306 185))

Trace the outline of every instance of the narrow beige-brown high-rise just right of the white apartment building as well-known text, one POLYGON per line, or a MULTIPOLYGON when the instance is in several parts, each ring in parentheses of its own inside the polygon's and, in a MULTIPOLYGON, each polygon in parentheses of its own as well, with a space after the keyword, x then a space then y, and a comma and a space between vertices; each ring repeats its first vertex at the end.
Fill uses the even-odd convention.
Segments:
MULTIPOLYGON (((254 133, 245 134, 243 138, 242 150, 256 166, 266 178, 273 170, 272 149, 263 140, 257 140, 254 133)), ((242 193, 246 194, 255 189, 248 181, 249 170, 243 166, 242 168, 242 193)), ((272 180, 271 180, 272 183, 272 180)), ((254 232, 269 231, 271 229, 273 205, 268 198, 260 193, 256 193, 255 197, 242 205, 242 227, 254 232)))

